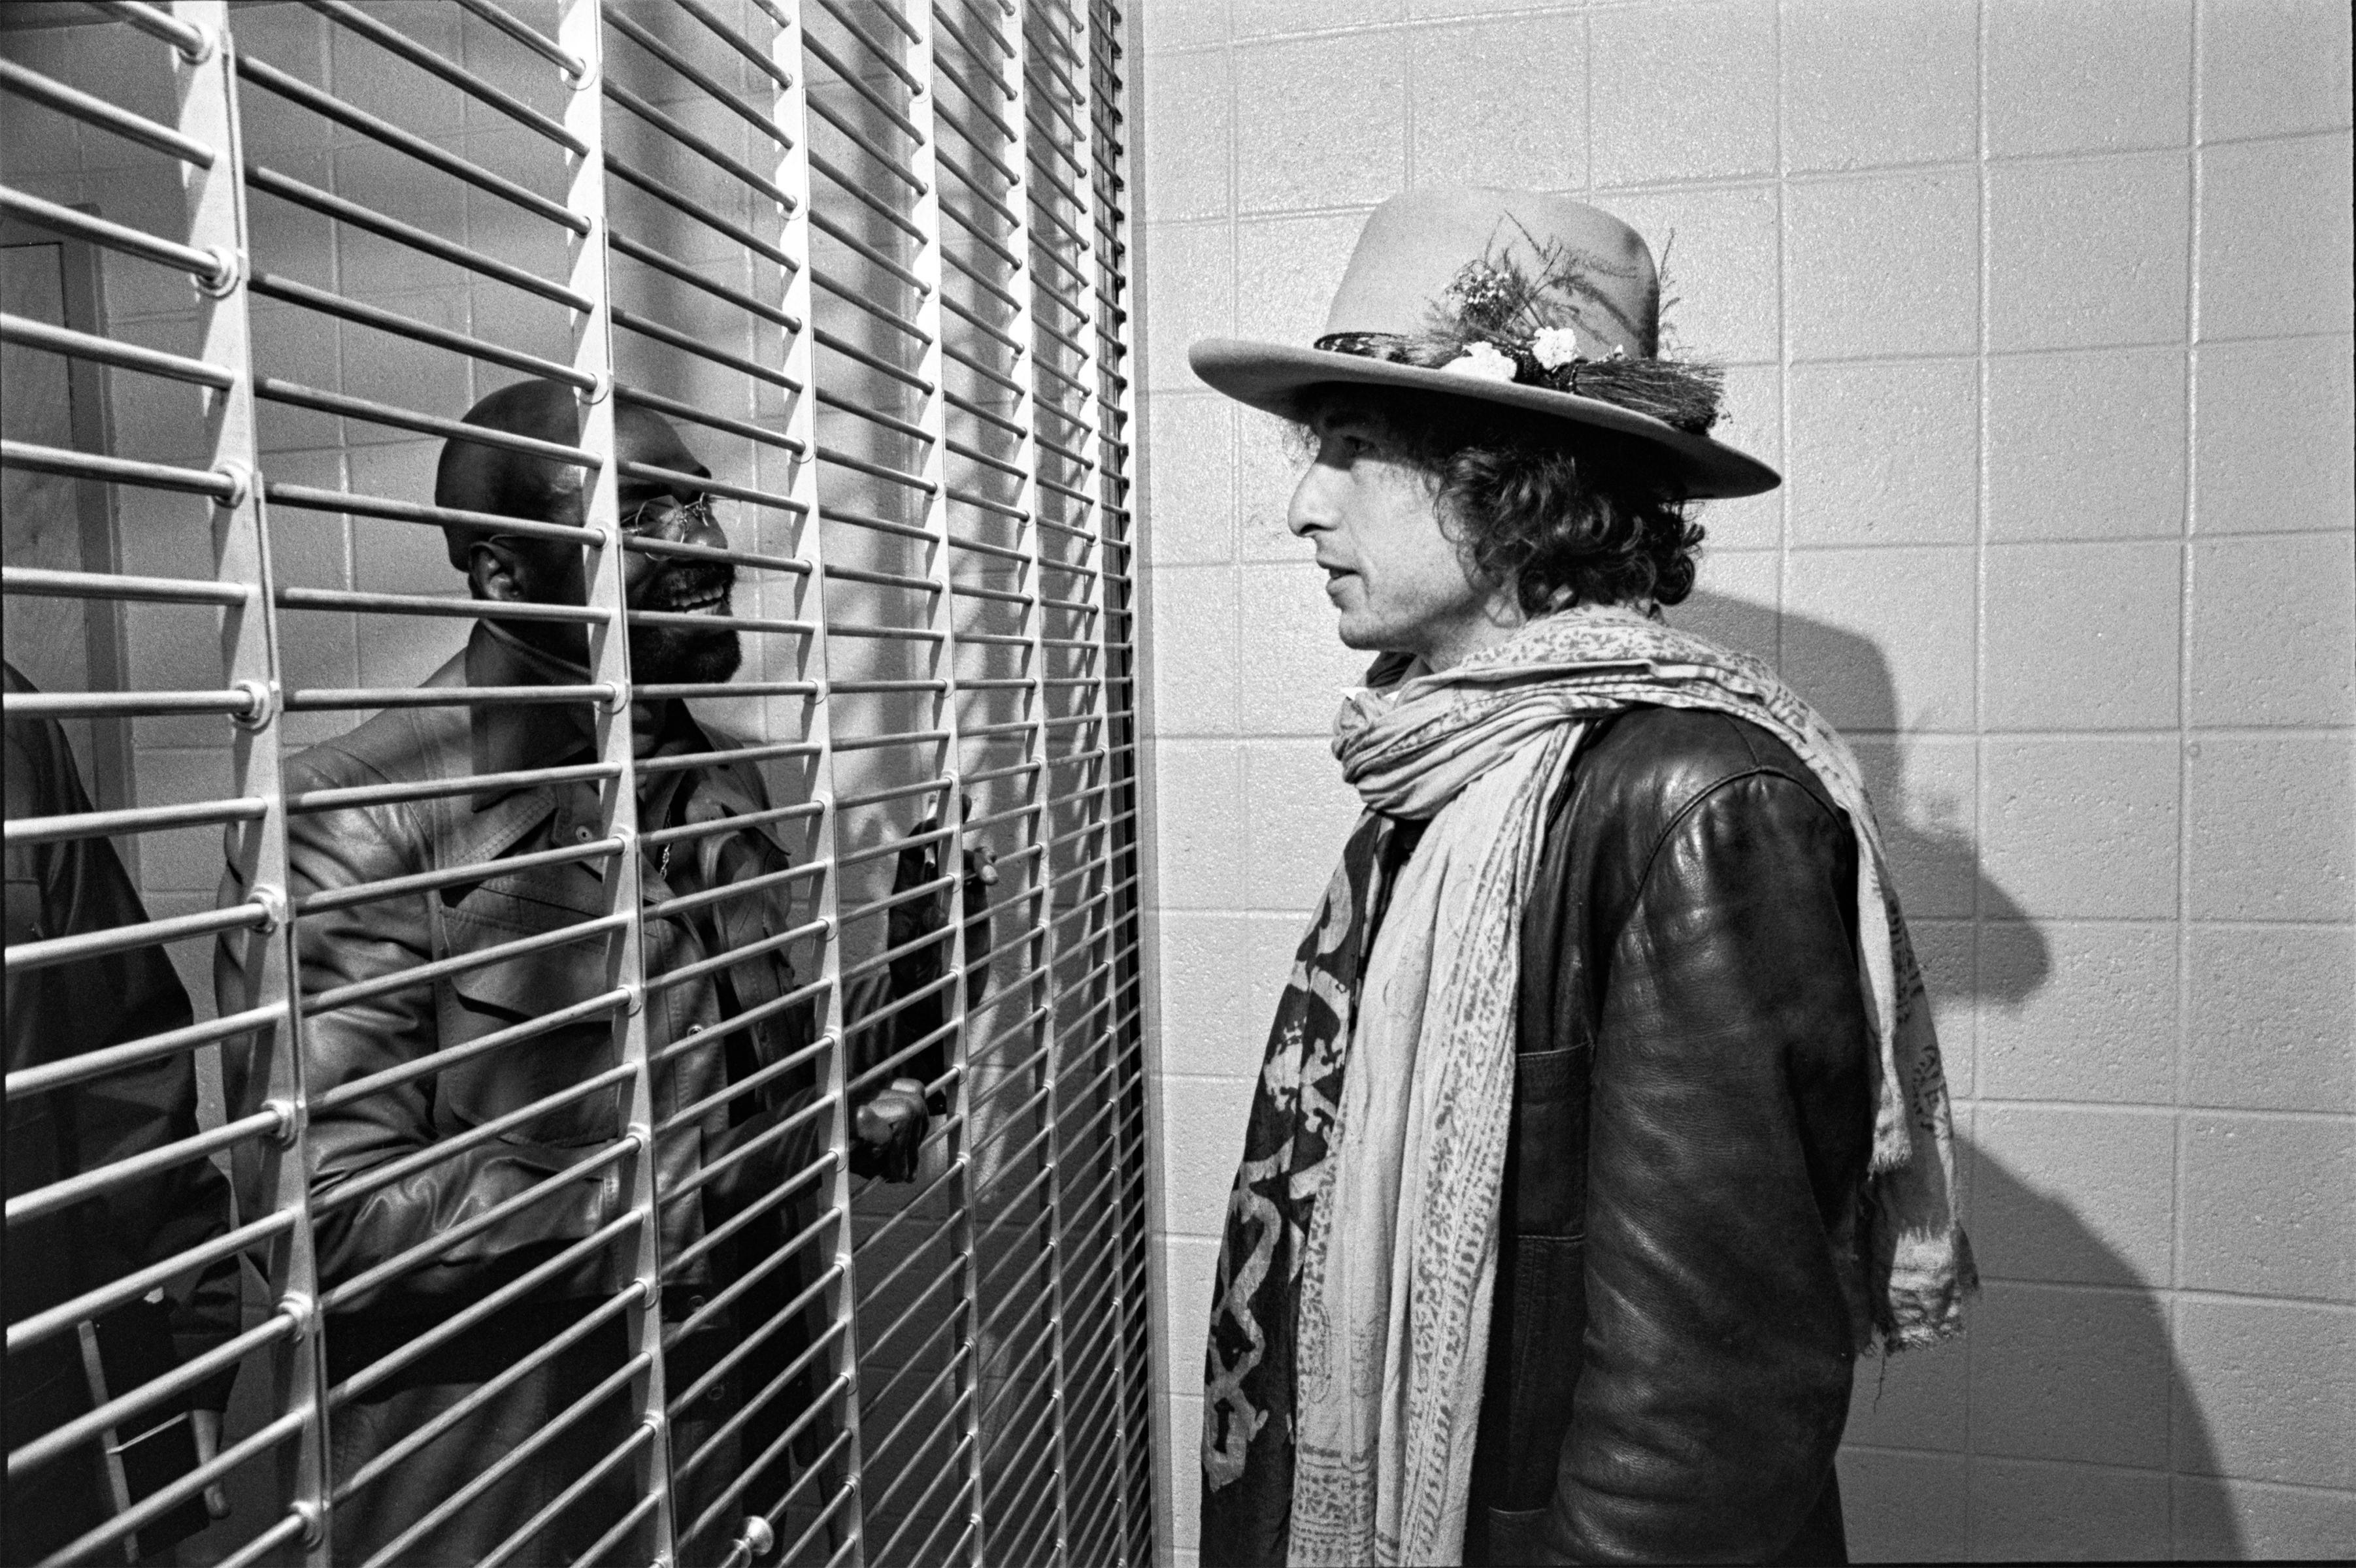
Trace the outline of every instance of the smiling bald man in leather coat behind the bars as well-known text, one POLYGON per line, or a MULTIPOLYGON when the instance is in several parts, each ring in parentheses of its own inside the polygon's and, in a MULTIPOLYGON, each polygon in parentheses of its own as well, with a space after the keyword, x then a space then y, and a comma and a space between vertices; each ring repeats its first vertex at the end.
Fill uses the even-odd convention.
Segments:
MULTIPOLYGON (((551 381, 523 381, 483 398, 469 424, 573 445, 580 438, 575 393, 551 381)), ((643 410, 620 410, 617 454, 681 476, 707 469, 679 433, 643 410)), ((434 483, 438 506, 580 525, 587 473, 563 461, 450 440, 434 483)), ((712 506, 693 480, 620 478, 624 534, 693 546, 726 546, 712 506)), ((582 549, 561 539, 445 527, 450 563, 474 596, 502 603, 584 603, 582 549)), ((631 626, 629 662, 638 683, 721 683, 740 662, 728 624, 733 567, 712 558, 624 553, 631 610, 712 617, 704 626, 631 626)), ((580 622, 483 619, 466 650, 431 676, 429 687, 584 685, 587 633, 580 622)), ((728 742, 697 727, 681 702, 636 702, 629 713, 638 756, 638 829, 726 824, 768 810, 759 772, 728 763, 728 742), (686 765, 671 765, 671 760, 686 765)), ((287 789, 349 789, 464 779, 591 763, 591 711, 582 704, 481 702, 389 709, 351 735, 313 746, 287 765, 287 789)), ((549 1097, 617 1064, 613 1010, 601 1008, 514 1045, 469 1055, 471 1041, 587 1003, 613 984, 605 937, 516 951, 492 963, 466 956, 521 944, 605 913, 608 857, 549 864, 549 857, 605 833, 594 782, 488 784, 393 805, 304 812, 290 822, 292 895, 320 899, 344 888, 457 866, 483 876, 422 892, 363 895, 302 918, 299 958, 306 1008, 311 1099, 311 1212, 320 1285, 335 1293, 327 1318, 332 1415, 332 1486, 353 1488, 335 1504, 335 1556, 363 1563, 386 1547, 393 1561, 471 1563, 490 1554, 535 1511, 551 1504, 636 1427, 636 1396, 617 1380, 624 1328, 598 1311, 634 1276, 636 1234, 603 1245, 589 1236, 629 1212, 629 1161, 598 1158, 622 1135, 627 1083, 589 1095, 549 1097), (504 869, 502 862, 535 857, 504 869), (405 979, 419 965, 452 968, 405 979), (417 1071, 436 1052, 438 1071, 417 1071), (398 1074, 398 1076, 393 1076, 398 1074), (351 1085, 382 1081, 353 1097, 351 1085), (542 1111, 528 1107, 547 1102, 542 1111), (518 1111, 523 1114, 518 1121, 518 1111), (547 1196, 521 1194, 584 1165, 577 1182, 547 1196), (514 1208, 502 1210, 502 1205, 514 1208), (401 1262, 396 1262, 401 1260, 401 1262), (563 1260, 558 1264, 558 1260, 563 1260), (391 1264, 391 1267, 389 1267, 391 1264), (436 1344, 389 1375, 370 1373, 384 1356, 431 1333, 532 1269, 554 1267, 523 1300, 485 1323, 436 1344), (591 1326, 589 1318, 598 1321, 591 1326), (556 1337, 573 1342, 551 1361, 525 1358, 556 1337), (353 1377, 365 1382, 349 1384, 353 1377), (575 1401, 601 1394, 575 1413, 575 1401), (349 1398, 342 1398, 349 1394, 349 1398), (448 1431, 424 1429, 471 1396, 478 1406, 448 1431), (424 1441, 419 1441, 424 1439, 424 1441), (478 1481, 523 1443, 540 1448, 518 1467, 478 1481), (377 1469, 372 1469, 377 1467, 377 1469), (469 1486, 462 1507, 445 1509, 469 1486), (443 1516, 436 1516, 436 1514, 443 1516), (429 1521, 431 1523, 424 1523, 429 1521), (424 1523, 424 1528, 419 1528, 424 1523)), ((938 841, 938 833, 933 836, 938 841)), ((926 836, 900 855, 898 890, 938 881, 926 836)), ((686 1464, 808 1344, 808 1309, 775 1314, 815 1278, 808 1243, 782 1267, 761 1269, 773 1250, 808 1227, 825 1196, 829 1111, 820 1104, 822 1057, 815 1001, 780 1010, 796 991, 787 946, 794 892, 808 878, 785 876, 789 857, 775 826, 754 822, 683 836, 641 852, 646 921, 646 1038, 655 1059, 655 1187, 664 1260, 662 1318, 669 1398, 695 1391, 671 1417, 671 1457, 686 1464), (735 963, 707 963, 742 949, 735 963), (693 975, 664 984, 667 975, 693 975), (747 1019, 747 1022, 733 1022, 747 1019), (787 1184, 787 1187, 780 1187, 787 1184), (726 1307, 714 1300, 730 1293, 726 1307), (761 1335, 747 1344, 747 1335, 761 1335), (747 1354, 697 1391, 714 1361, 747 1354)), ((994 881, 987 850, 966 855, 966 906, 985 911, 994 881)), ((919 892, 891 913, 888 942, 900 949, 947 923, 947 890, 919 892)), ((968 951, 990 946, 987 913, 968 923, 968 951)), ((893 958, 843 1003, 851 1031, 848 1078, 884 1069, 893 1055, 926 1041, 947 1017, 935 979, 947 968, 947 935, 893 958), (893 1015, 860 1019, 900 1001, 893 1015)), ((236 996, 236 963, 224 961, 224 1008, 236 996)), ((853 1088, 851 1168, 905 1182, 926 1132, 926 1081, 945 1071, 942 1043, 926 1043, 888 1067, 888 1083, 853 1088)), ((876 1076, 886 1076, 876 1071, 876 1076)), ((259 1085, 231 1092, 259 1095, 259 1085)), ((766 1403, 702 1455, 676 1495, 686 1533, 714 1488, 782 1436, 808 1406, 813 1380, 768 1389, 766 1403)), ((808 1455, 813 1446, 801 1443, 808 1455)), ((766 1481, 700 1535, 723 1542, 733 1519, 775 1495, 787 1476, 773 1462, 766 1481)), ((622 1460, 568 1504, 511 1561, 558 1563, 577 1556, 636 1500, 636 1462, 622 1460)), ((716 1552, 714 1552, 716 1554, 716 1552)))

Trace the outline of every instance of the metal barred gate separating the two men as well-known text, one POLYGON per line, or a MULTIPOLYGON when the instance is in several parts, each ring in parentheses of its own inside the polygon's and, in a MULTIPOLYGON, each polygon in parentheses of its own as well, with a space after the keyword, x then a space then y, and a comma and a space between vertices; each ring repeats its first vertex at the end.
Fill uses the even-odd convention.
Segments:
MULTIPOLYGON (((629 1476, 634 1504, 577 1561, 638 1552, 657 1563, 730 1566, 773 1554, 789 1563, 1150 1561, 1119 12, 1107 0, 462 0, 448 28, 415 31, 415 12, 344 0, 306 7, 332 73, 240 49, 224 0, 97 5, 170 52, 170 113, 141 113, 108 82, 0 61, 0 92, 179 170, 186 212, 177 228, 16 186, 0 188, 0 210, 87 240, 120 266, 186 273, 196 353, 19 315, 0 318, 0 339, 106 365, 118 384, 184 384, 203 403, 205 438, 203 459, 186 459, 9 436, 0 464, 115 494, 193 497, 174 513, 191 527, 210 504, 210 574, 9 563, 0 586, 9 598, 210 614, 221 650, 210 687, 9 695, 7 716, 181 725, 174 735, 214 725, 203 730, 205 744, 229 763, 229 789, 217 796, 12 819, 7 838, 14 848, 221 831, 231 890, 212 911, 9 946, 14 977, 134 946, 219 944, 229 989, 219 1017, 200 1012, 184 1029, 12 1071, 7 1092, 78 1092, 113 1071, 233 1048, 250 1064, 254 1107, 233 1104, 177 1147, 12 1194, 7 1222, 57 1215, 172 1163, 221 1154, 259 1172, 240 1191, 266 1194, 266 1212, 238 1215, 226 1234, 9 1323, 16 1356, 226 1257, 252 1260, 269 1283, 266 1309, 257 1318, 250 1302, 250 1326, 219 1349, 141 1389, 111 1391, 101 1408, 9 1453, 12 1481, 90 1462, 94 1441, 219 1368, 243 1363, 247 1389, 266 1384, 262 1398, 240 1403, 262 1417, 240 1424, 233 1413, 214 1460, 49 1561, 115 1561, 137 1528, 226 1479, 243 1486, 240 1497, 269 1500, 262 1516, 247 1507, 214 1528, 226 1561, 327 1563, 339 1507, 365 1507, 370 1488, 471 1410, 613 1323, 627 1354, 603 1384, 507 1455, 481 1455, 464 1483, 370 1561, 429 1544, 445 1519, 549 1455, 568 1429, 584 1429, 577 1422, 608 1398, 636 1413, 627 1434, 488 1561, 532 1547, 617 1474, 629 1476), (370 92, 368 75, 379 71, 419 87, 408 97, 370 92), (497 125, 499 134, 478 141, 412 122, 412 99, 431 97, 426 82, 455 92, 469 125, 497 125), (415 186, 459 191, 464 219, 436 221, 431 202, 419 219, 403 200, 410 186, 356 188, 342 162, 318 184, 297 165, 250 158, 254 104, 271 115, 311 115, 304 122, 323 125, 337 146, 403 160, 415 186), (464 278, 457 287, 476 301, 464 313, 474 325, 450 325, 398 287, 320 287, 297 275, 302 257, 273 250, 283 240, 262 240, 250 200, 271 205, 271 235, 309 224, 339 235, 337 247, 365 240, 405 257, 401 266, 464 278), (547 261, 551 245, 565 257, 561 280, 547 261), (269 341, 257 346, 252 301, 266 301, 273 323, 332 323, 346 344, 445 356, 466 384, 485 377, 483 388, 514 374, 568 384, 580 393, 580 436, 549 443, 459 426, 457 407, 396 400, 415 396, 401 393, 398 379, 393 396, 356 393, 344 381, 372 381, 365 360, 349 353, 332 384, 313 384, 318 374, 276 363, 269 341), (728 325, 716 327, 721 320, 728 325), (716 478, 624 461, 615 438, 622 407, 669 419, 712 459, 716 478), (370 476, 384 469, 360 461, 349 436, 318 443, 339 473, 320 485, 311 473, 318 464, 283 459, 287 443, 264 428, 271 419, 290 421, 280 428, 297 419, 327 431, 365 426, 410 443, 464 428, 485 445, 582 471, 582 520, 452 511, 401 485, 377 494, 382 480, 370 476), (730 523, 737 532, 726 551, 624 534, 617 492, 629 478, 693 480, 733 501, 744 523, 730 523), (488 607, 320 586, 273 563, 273 539, 309 560, 323 532, 365 532, 431 553, 438 542, 424 530, 448 525, 580 546, 584 605, 488 607), (744 680, 631 680, 627 631, 688 617, 629 607, 629 556, 740 570, 740 593, 756 605, 737 617, 754 657, 744 680), (372 683, 363 659, 360 680, 342 685, 316 678, 316 662, 297 652, 306 643, 292 622, 309 636, 318 617, 375 617, 358 624, 396 638, 474 617, 573 622, 587 631, 589 671, 570 687, 466 687, 452 697, 450 687, 372 683), (634 697, 735 704, 730 716, 749 704, 759 735, 726 753, 638 758, 634 697), (551 699, 589 704, 589 760, 363 786, 294 784, 280 765, 304 737, 375 709, 483 711, 551 699), (641 824, 641 782, 721 760, 789 779, 775 791, 780 805, 759 817, 763 831, 799 833, 801 852, 792 869, 759 881, 796 890, 796 921, 686 970, 648 972, 657 921, 740 895, 716 888, 650 902, 653 864, 669 866, 674 848, 693 855, 714 829, 641 824), (598 800, 594 826, 575 843, 356 888, 292 888, 290 819, 563 786, 587 786, 598 800), (912 831, 914 817, 924 822, 912 831), (968 909, 975 883, 952 871, 966 836, 999 852, 987 911, 968 909), (931 845, 938 871, 879 897, 902 845, 931 845), (598 871, 603 916, 332 989, 302 979, 306 923, 561 864, 598 871), (919 897, 945 904, 945 930, 893 944, 888 916, 919 897), (971 921, 982 913, 990 946, 968 951, 982 930, 971 921), (547 998, 535 1017, 358 1081, 306 1081, 306 1036, 337 1010, 575 944, 603 954, 601 991, 547 998), (945 949, 940 975, 881 1001, 891 968, 935 944, 945 949), (756 1083, 733 1081, 712 1102, 667 1107, 664 1074, 688 1045, 660 1043, 650 1008, 728 965, 787 951, 808 979, 716 1034, 810 1008, 813 1043, 754 1078, 813 1071, 806 1109, 763 1140, 818 1118, 822 1147, 813 1165, 754 1203, 792 1212, 794 1234, 737 1283, 686 1302, 681 1318, 667 1304, 667 1281, 683 1278, 690 1255, 721 1245, 752 1212, 667 1257, 660 1215, 697 1203, 716 1170, 667 1187, 653 1156, 667 1135, 693 1135, 695 1116, 756 1083), (938 1022, 879 1055, 876 1041, 888 1036, 876 1029, 909 1008, 938 1022), (313 1191, 313 1116, 431 1085, 438 1074, 582 1026, 610 1026, 610 1069, 313 1191), (853 1102, 926 1062, 940 1064, 924 1071, 945 1114, 914 1189, 858 1182, 848 1163, 853 1102), (320 1281, 313 1229, 335 1210, 603 1097, 620 1107, 617 1137, 580 1165, 358 1276, 320 1281), (330 1382, 339 1309, 582 1180, 617 1194, 605 1222, 330 1382), (605 1276, 617 1281, 605 1297, 558 1321, 483 1389, 370 1464, 335 1471, 339 1410, 594 1260, 608 1260, 605 1276), (794 1281, 792 1300, 763 1321, 737 1318, 737 1347, 719 1366, 676 1370, 683 1335, 726 1321, 716 1314, 733 1300, 754 1300, 744 1290, 761 1276, 794 1281), (799 1326, 808 1326, 806 1344, 763 1389, 744 1391, 728 1427, 686 1436, 688 1406, 761 1342, 785 1335, 780 1342, 794 1344, 799 1326), (766 1450, 730 1448, 730 1429, 752 1431, 744 1422, 763 1408, 775 1429, 768 1436, 761 1427, 766 1450)), ((283 146, 271 153, 283 155, 283 146)))

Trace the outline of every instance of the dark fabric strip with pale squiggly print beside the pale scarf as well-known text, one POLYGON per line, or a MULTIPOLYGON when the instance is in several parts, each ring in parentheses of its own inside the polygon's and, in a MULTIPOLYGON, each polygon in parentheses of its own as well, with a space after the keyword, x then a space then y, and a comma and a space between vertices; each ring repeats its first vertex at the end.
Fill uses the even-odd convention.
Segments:
POLYGON ((1369 913, 1402 824, 1369 812, 1293 956, 1227 1194, 1202 1408, 1202 1556, 1282 1563, 1293 1495, 1293 1321, 1301 1255, 1350 1055, 1369 913), (1242 1481, 1242 1486, 1239 1486, 1242 1481))

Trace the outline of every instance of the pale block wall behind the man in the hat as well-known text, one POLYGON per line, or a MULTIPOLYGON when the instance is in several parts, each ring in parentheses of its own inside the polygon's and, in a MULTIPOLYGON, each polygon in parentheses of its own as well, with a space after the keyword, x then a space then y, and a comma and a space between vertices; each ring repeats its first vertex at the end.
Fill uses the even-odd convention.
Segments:
POLYGON ((2330 0, 1164 0, 1143 16, 1171 1540, 1362 662, 1298 452, 1185 367, 1308 344, 1364 212, 1581 193, 1776 494, 1673 619, 1878 784, 1986 1295, 1864 1366, 1866 1556, 2356 1549, 2349 21, 2330 0))

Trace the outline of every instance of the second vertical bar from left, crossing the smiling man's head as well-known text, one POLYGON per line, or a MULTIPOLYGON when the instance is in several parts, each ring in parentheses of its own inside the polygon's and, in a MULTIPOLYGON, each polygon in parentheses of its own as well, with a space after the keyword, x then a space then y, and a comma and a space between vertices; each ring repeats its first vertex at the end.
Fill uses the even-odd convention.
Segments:
POLYGON ((601 461, 587 476, 587 506, 582 525, 598 544, 589 546, 587 603, 603 610, 605 619, 589 626, 589 678, 603 683, 613 697, 596 709, 596 753, 615 770, 605 791, 608 836, 620 838, 624 850, 613 857, 605 876, 608 909, 627 916, 615 930, 610 954, 613 986, 627 986, 629 1008, 615 1015, 615 1045, 629 1078, 629 1123, 624 1137, 636 1140, 638 1151, 629 1161, 629 1203, 641 1215, 636 1229, 634 1288, 638 1304, 624 1314, 629 1326, 629 1354, 646 1354, 646 1387, 641 1396, 641 1424, 653 1434, 638 1457, 641 1495, 655 1497, 653 1509, 653 1556, 669 1563, 676 1540, 676 1509, 671 1497, 671 1441, 664 1420, 664 1361, 662 1361, 662 1224, 655 1191, 655 1076, 648 1064, 646 1038, 646 897, 641 890, 643 857, 638 852, 638 763, 634 751, 634 725, 629 702, 629 622, 622 582, 624 553, 620 527, 620 457, 615 452, 615 405, 613 405, 613 280, 605 257, 605 33, 598 26, 596 0, 563 0, 556 24, 558 42, 582 61, 582 73, 573 78, 573 94, 565 99, 565 129, 580 139, 582 153, 570 155, 570 181, 565 207, 589 221, 589 231, 573 242, 570 287, 589 299, 587 311, 573 315, 573 367, 591 377, 591 391, 580 410, 580 445, 601 461))

